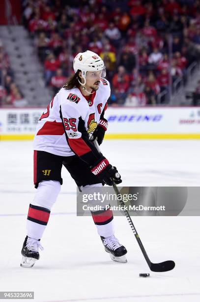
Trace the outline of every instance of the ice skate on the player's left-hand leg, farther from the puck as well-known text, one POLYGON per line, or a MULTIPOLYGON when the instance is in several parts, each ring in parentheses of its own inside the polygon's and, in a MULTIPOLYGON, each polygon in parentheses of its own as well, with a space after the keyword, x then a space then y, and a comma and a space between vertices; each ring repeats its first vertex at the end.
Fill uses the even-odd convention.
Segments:
POLYGON ((22 247, 22 267, 32 267, 35 264, 36 260, 39 260, 40 255, 38 249, 43 250, 43 247, 40 244, 40 239, 36 240, 30 237, 26 237, 23 247, 22 247))

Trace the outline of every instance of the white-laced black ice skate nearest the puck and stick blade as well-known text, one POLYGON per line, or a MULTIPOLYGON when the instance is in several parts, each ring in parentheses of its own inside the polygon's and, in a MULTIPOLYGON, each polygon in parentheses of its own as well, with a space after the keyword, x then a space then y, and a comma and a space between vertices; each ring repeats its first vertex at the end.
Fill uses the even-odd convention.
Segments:
POLYGON ((110 257, 113 261, 126 263, 127 259, 125 254, 127 253, 126 248, 119 243, 118 239, 112 235, 110 237, 102 237, 101 240, 105 247, 105 251, 110 253, 110 257))

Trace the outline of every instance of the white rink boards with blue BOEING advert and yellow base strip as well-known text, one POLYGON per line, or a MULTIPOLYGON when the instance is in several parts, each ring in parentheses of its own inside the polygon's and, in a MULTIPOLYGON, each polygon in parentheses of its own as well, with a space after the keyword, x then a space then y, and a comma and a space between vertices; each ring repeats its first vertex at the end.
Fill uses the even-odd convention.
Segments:
MULTIPOLYGON (((0 109, 0 140, 32 140, 41 108, 0 109)), ((109 107, 106 139, 200 139, 198 107, 109 107)))

